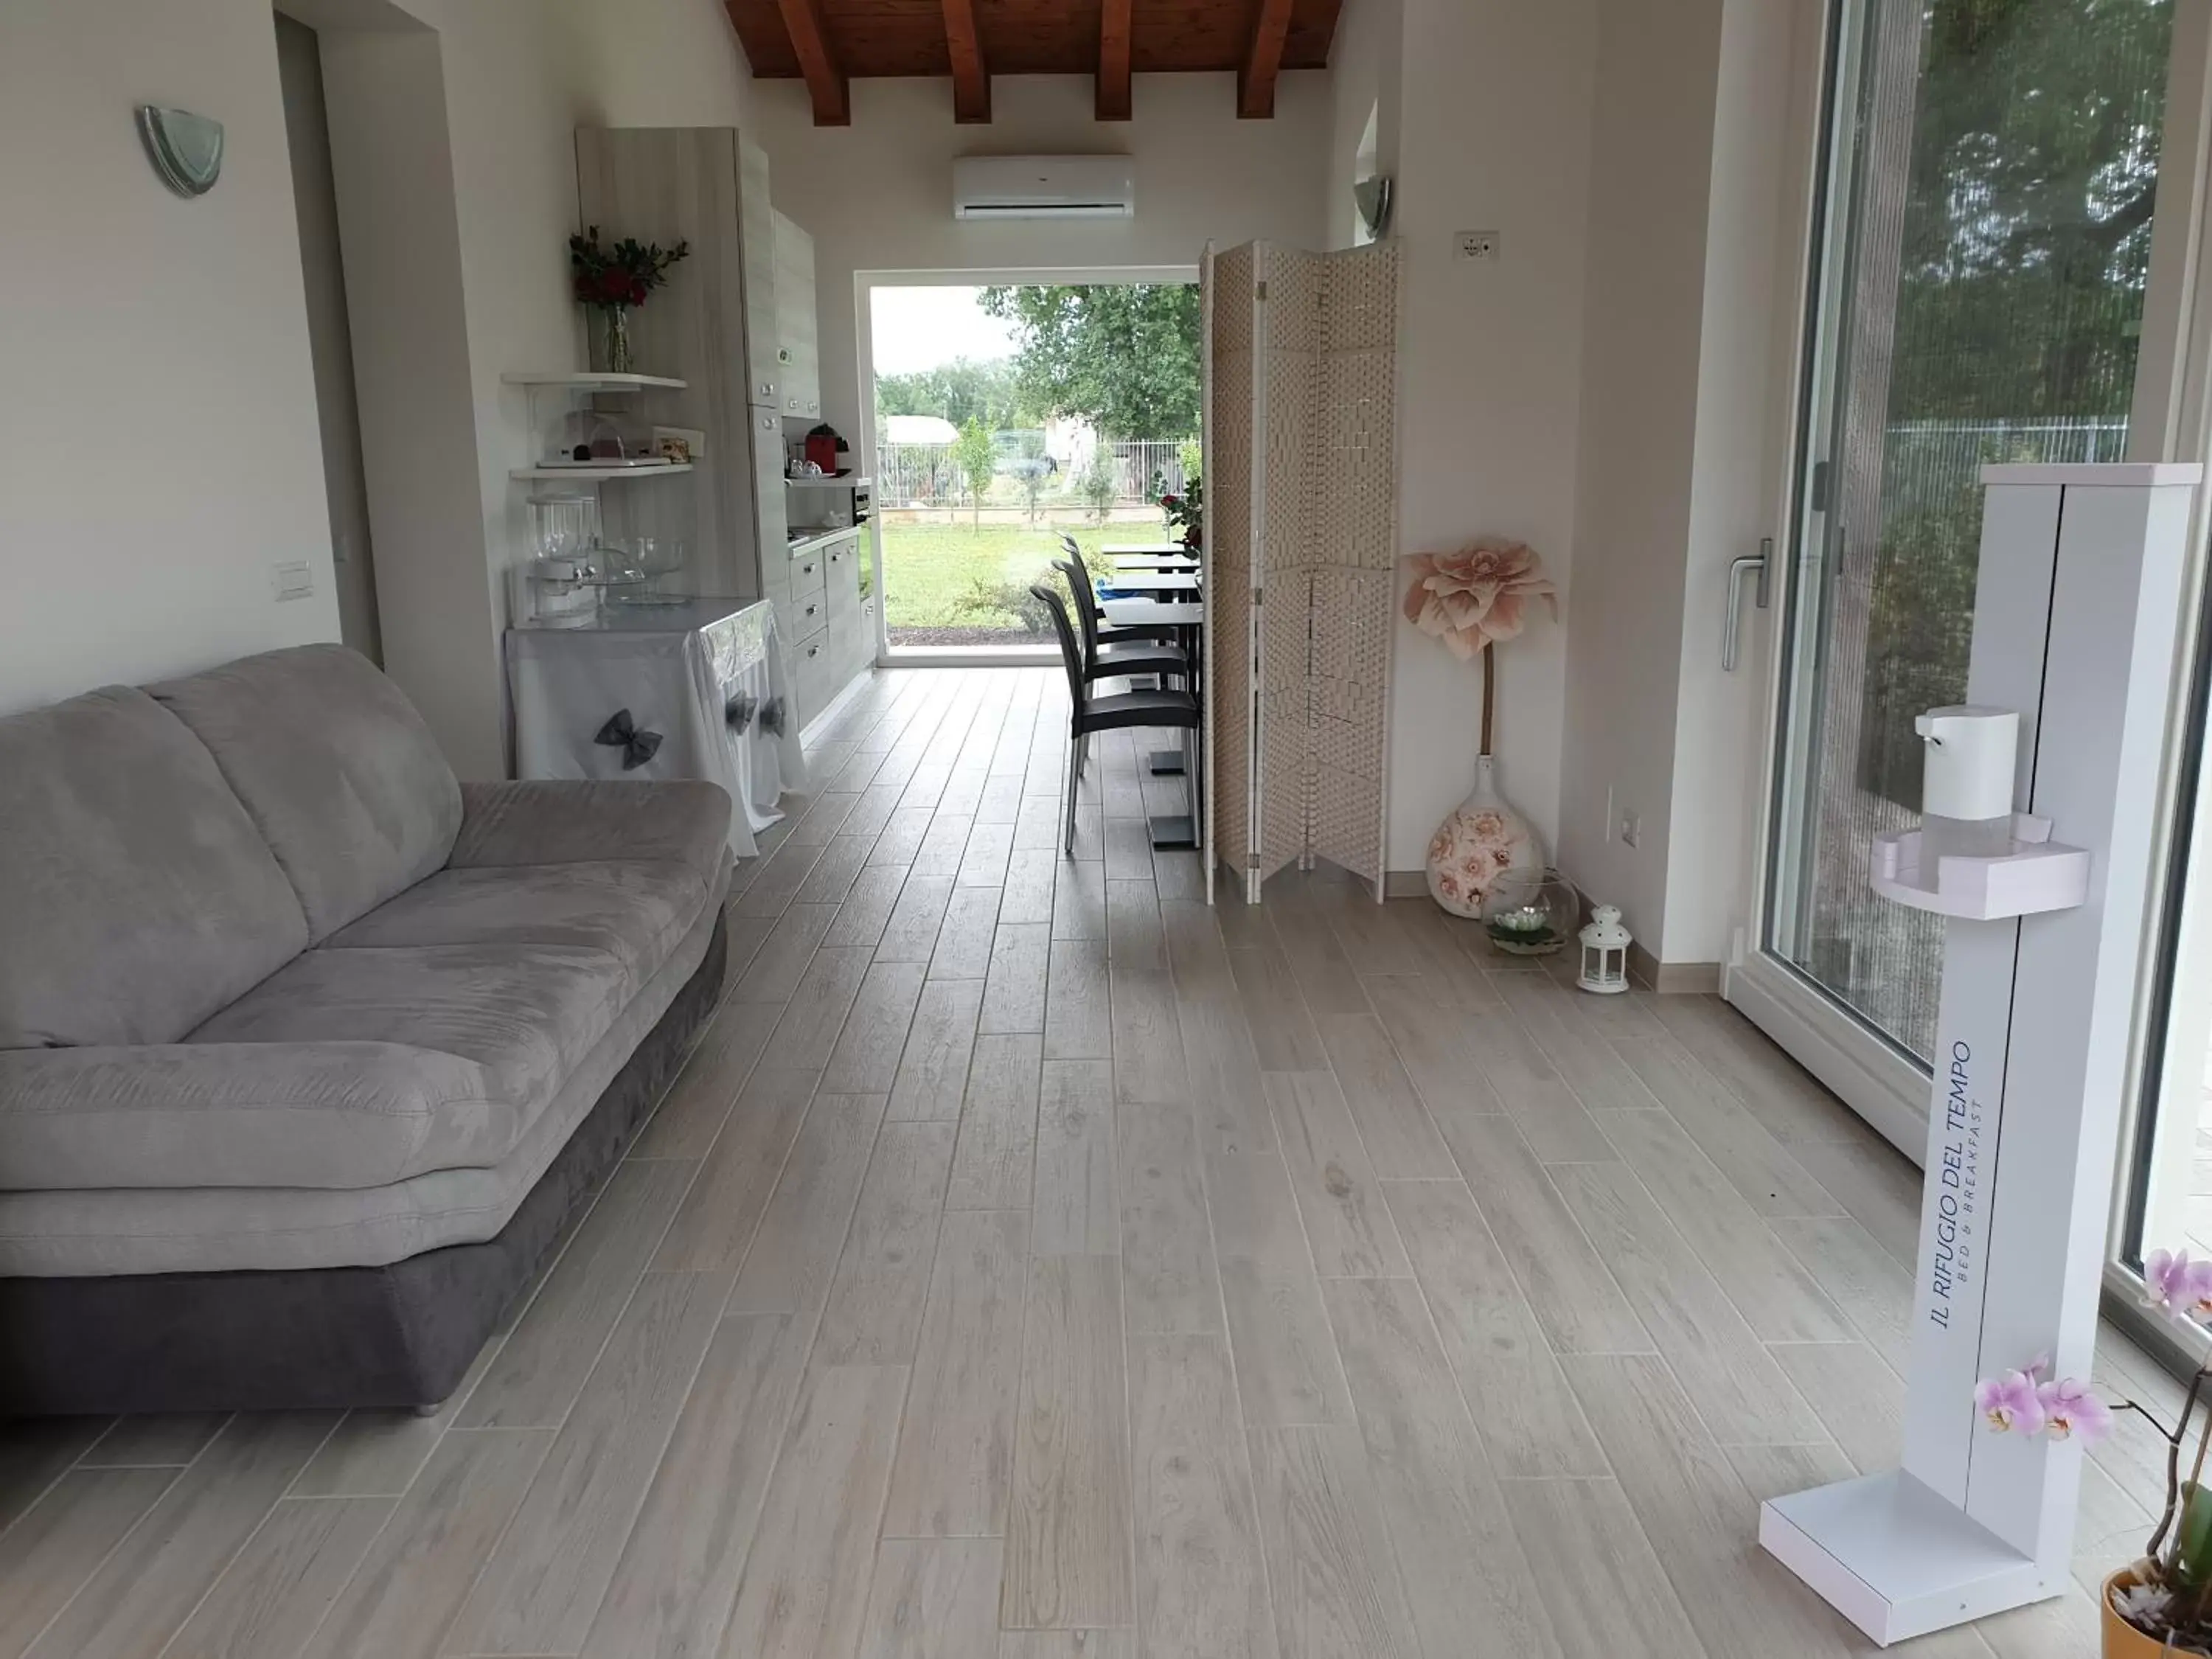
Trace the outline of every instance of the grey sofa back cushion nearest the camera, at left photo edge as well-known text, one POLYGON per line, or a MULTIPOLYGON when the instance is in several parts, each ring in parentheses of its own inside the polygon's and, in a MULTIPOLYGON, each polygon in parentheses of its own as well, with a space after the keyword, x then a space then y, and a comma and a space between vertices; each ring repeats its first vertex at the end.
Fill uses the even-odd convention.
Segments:
POLYGON ((175 1042, 305 945, 246 807, 146 692, 0 719, 0 1048, 175 1042))

